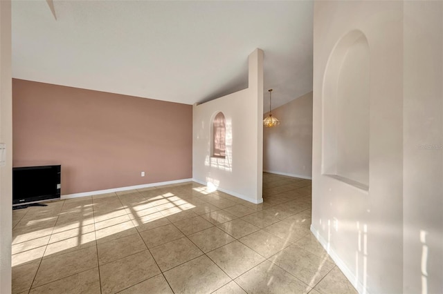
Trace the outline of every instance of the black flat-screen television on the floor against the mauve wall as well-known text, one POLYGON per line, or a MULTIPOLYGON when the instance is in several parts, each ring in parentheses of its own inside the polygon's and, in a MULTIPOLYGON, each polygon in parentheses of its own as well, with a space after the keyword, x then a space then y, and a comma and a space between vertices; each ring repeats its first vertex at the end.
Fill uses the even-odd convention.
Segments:
POLYGON ((12 206, 60 199, 61 166, 12 168, 12 206))

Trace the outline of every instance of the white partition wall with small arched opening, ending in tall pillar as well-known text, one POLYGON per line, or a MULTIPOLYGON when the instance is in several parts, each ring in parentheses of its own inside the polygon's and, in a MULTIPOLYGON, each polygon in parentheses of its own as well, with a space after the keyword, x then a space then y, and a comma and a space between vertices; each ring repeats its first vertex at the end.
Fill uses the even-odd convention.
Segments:
POLYGON ((248 88, 192 108, 192 177, 249 202, 261 203, 263 51, 248 57, 248 88), (226 119, 226 158, 211 157, 212 121, 226 119))

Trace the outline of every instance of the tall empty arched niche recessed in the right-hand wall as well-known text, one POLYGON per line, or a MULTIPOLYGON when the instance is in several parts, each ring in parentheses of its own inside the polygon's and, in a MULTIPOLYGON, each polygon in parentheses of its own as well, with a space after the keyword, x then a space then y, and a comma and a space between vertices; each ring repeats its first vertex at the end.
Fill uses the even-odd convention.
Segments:
POLYGON ((334 46, 323 79, 322 174, 369 188, 370 47, 360 30, 334 46))

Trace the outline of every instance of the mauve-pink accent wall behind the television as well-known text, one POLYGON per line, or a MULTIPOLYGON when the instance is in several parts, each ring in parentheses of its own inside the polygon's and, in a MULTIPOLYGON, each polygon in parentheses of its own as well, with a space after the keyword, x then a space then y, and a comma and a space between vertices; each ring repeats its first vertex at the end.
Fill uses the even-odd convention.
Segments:
POLYGON ((192 177, 186 104, 13 79, 12 137, 13 166, 62 165, 62 195, 192 177))

